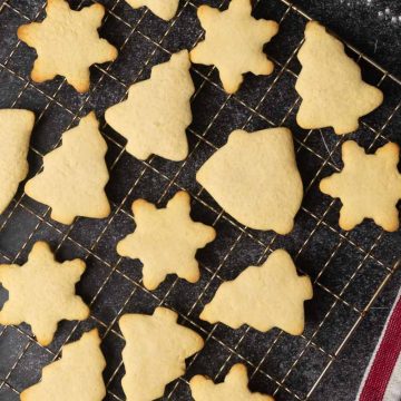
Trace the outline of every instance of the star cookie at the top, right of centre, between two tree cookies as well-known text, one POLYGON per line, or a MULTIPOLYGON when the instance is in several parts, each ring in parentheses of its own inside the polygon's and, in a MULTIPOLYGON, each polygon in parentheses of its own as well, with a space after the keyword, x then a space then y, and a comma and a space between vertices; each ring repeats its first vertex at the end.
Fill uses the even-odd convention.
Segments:
POLYGON ((263 52, 263 46, 277 33, 278 25, 256 20, 251 12, 251 0, 232 0, 225 11, 209 6, 198 8, 197 14, 206 33, 205 40, 190 51, 190 60, 215 65, 228 94, 238 90, 243 74, 268 75, 274 68, 263 52))

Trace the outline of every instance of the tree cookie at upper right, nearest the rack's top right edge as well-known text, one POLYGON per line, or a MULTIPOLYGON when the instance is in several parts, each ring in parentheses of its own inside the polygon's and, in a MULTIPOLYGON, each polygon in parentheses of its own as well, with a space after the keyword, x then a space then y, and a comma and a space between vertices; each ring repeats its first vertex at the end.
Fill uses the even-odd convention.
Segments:
POLYGON ((300 49, 302 70, 295 85, 302 97, 296 116, 303 128, 333 127, 339 135, 358 129, 359 118, 383 101, 383 94, 365 84, 361 69, 340 40, 319 22, 309 22, 300 49))

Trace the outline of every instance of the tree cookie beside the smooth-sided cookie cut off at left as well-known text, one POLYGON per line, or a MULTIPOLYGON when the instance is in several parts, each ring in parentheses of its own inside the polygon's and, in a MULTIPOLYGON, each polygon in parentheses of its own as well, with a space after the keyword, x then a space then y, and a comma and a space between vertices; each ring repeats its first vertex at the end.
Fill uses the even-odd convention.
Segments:
POLYGON ((45 156, 43 172, 27 183, 27 195, 49 205, 51 218, 63 224, 71 224, 76 216, 107 217, 106 151, 99 123, 90 113, 62 135, 60 147, 45 156))

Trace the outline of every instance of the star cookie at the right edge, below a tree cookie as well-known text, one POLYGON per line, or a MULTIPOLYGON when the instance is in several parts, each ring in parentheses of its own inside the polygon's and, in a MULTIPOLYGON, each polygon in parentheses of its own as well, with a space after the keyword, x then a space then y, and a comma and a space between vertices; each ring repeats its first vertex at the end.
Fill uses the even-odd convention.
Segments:
POLYGON ((388 232, 399 228, 397 203, 401 199, 400 148, 390 143, 375 154, 365 154, 363 147, 348 140, 342 145, 344 168, 321 180, 320 189, 343 204, 340 227, 352 229, 364 218, 388 232))

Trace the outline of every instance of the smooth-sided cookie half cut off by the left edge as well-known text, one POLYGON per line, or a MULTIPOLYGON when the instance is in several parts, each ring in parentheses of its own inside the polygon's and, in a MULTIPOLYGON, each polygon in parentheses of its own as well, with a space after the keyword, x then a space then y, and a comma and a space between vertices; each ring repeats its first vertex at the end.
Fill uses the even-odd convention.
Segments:
POLYGON ((29 110, 0 110, 0 214, 28 174, 27 155, 35 115, 29 110))

